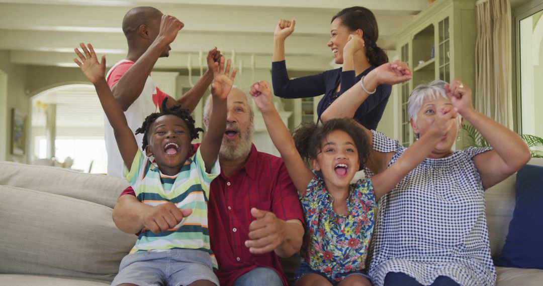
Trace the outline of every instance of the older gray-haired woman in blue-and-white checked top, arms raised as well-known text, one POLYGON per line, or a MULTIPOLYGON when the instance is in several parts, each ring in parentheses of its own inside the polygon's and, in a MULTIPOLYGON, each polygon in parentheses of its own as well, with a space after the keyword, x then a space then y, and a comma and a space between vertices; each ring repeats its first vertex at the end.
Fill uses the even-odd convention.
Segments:
MULTIPOLYGON (((353 114, 383 81, 411 77, 407 64, 378 67, 326 111, 329 118, 353 114)), ((396 83, 400 82, 396 80, 396 83)), ((477 112, 471 90, 459 80, 433 81, 416 87, 408 100, 411 126, 418 138, 436 114, 456 108, 463 119, 432 153, 378 201, 369 274, 375 285, 494 285, 484 190, 509 177, 530 159, 522 139, 507 127, 477 112), (468 120, 491 147, 453 151, 463 120, 468 120)), ((368 177, 393 164, 406 150, 396 140, 366 130, 373 151, 368 177)))

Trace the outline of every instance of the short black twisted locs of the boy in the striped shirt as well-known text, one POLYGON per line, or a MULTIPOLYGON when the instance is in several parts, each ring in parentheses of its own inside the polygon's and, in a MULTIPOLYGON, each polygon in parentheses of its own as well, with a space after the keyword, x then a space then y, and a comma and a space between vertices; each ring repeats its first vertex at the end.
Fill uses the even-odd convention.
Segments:
POLYGON ((160 108, 161 111, 151 113, 143 121, 142 126, 136 129, 136 134, 143 134, 143 141, 141 145, 141 148, 143 149, 143 151, 145 151, 145 147, 149 145, 147 137, 149 135, 149 131, 151 129, 151 126, 153 125, 153 122, 155 122, 155 120, 162 115, 175 115, 181 118, 183 121, 185 121, 185 124, 188 127, 188 132, 189 134, 191 134, 191 140, 197 139, 199 137, 198 133, 204 132, 204 129, 194 126, 195 121, 192 118, 191 113, 188 112, 188 109, 182 108, 181 105, 174 105, 171 108, 168 108, 166 107, 167 101, 168 101, 168 98, 165 98, 162 101, 162 107, 160 108))

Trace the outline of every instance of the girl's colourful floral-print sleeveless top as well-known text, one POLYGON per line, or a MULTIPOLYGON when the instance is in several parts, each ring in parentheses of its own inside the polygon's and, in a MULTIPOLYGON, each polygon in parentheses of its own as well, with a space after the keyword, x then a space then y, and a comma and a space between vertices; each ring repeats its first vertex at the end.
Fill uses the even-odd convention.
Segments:
POLYGON ((300 201, 306 217, 301 259, 338 282, 340 274, 364 269, 377 209, 371 180, 351 184, 346 215, 334 212, 333 198, 318 176, 300 201))

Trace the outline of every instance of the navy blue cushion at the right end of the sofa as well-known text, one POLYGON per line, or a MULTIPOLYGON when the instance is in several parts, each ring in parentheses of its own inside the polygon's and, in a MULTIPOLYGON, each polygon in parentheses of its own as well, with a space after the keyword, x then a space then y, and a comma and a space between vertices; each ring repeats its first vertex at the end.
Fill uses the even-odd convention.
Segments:
POLYGON ((543 167, 526 165, 516 175, 516 204, 497 266, 543 269, 543 167))

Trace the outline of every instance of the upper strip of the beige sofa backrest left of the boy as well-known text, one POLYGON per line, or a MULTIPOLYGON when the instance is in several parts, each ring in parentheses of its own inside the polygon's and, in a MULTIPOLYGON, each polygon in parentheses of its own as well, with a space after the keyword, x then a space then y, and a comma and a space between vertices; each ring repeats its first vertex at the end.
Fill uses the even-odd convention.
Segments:
POLYGON ((121 178, 75 172, 65 168, 0 161, 0 185, 28 188, 114 207, 128 187, 121 178))

